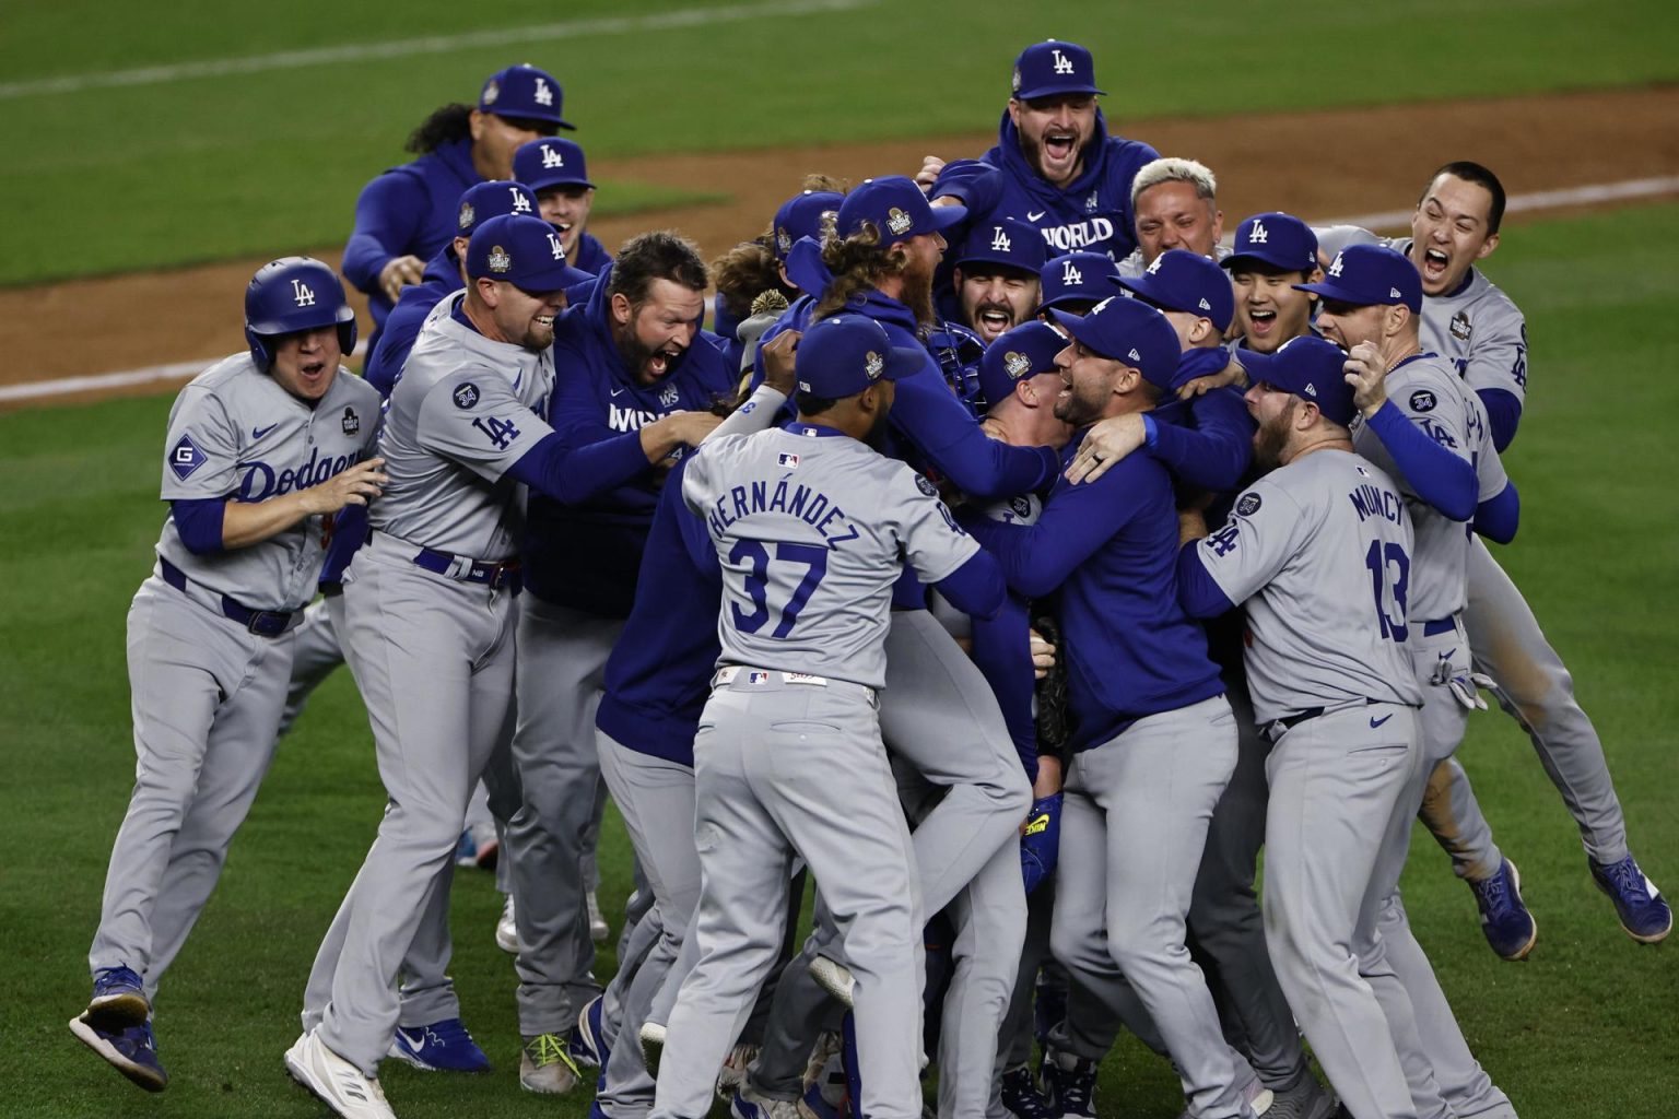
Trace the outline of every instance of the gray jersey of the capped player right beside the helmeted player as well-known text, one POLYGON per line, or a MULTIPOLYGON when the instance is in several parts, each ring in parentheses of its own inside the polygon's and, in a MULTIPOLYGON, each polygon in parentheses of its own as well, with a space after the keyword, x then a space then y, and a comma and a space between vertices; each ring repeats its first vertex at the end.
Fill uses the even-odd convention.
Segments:
POLYGON ((379 435, 391 480, 369 518, 410 544, 504 560, 524 535, 507 468, 552 431, 554 359, 463 325, 453 317, 462 299, 437 305, 391 389, 379 435))

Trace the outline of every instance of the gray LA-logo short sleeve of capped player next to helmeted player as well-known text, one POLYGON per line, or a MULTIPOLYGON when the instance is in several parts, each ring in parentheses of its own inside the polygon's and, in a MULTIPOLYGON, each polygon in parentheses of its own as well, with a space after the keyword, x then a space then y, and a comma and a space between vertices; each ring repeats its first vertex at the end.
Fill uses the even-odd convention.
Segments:
POLYGON ((430 388, 420 404, 418 443, 497 481, 542 436, 547 421, 514 396, 492 369, 463 366, 430 388))

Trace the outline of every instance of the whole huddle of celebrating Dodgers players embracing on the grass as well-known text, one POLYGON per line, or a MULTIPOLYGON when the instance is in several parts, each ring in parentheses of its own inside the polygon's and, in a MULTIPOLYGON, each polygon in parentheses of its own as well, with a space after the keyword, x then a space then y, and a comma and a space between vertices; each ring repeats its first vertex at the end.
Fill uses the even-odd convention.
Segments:
POLYGON ((1504 190, 1446 163, 1410 237, 1224 243, 1214 173, 1095 81, 1034 44, 996 148, 811 176, 707 265, 609 255, 559 82, 509 67, 356 205, 363 376, 337 273, 264 265, 248 352, 170 413, 76 1037, 166 1085, 163 973, 348 663, 388 804, 284 1054, 344 1119, 395 1116, 386 1057, 490 1069, 462 851, 507 894, 520 1084, 593 1075, 596 1119, 1093 1117, 1122 1027, 1194 1119, 1514 1119, 1399 889, 1420 819, 1493 951, 1536 945, 1454 757, 1481 690, 1622 928, 1672 911, 1484 544, 1521 515, 1526 330, 1476 267, 1504 190))

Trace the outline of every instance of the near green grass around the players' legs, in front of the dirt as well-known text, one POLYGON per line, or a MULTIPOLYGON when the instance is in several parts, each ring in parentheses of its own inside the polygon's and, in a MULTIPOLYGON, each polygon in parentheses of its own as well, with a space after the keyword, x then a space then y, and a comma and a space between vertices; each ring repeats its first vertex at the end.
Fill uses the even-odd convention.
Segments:
MULTIPOLYGON (((1667 258, 1679 206, 1525 226, 1491 262, 1533 322, 1533 404, 1508 456, 1525 497, 1501 552, 1575 671, 1608 750, 1635 851, 1679 882, 1679 597, 1676 453, 1679 327, 1667 258)), ((124 611, 161 522, 158 448, 168 399, 0 416, 0 1037, 8 1116, 285 1116, 321 1109, 285 1079, 302 983, 373 837, 383 802, 348 676, 316 698, 279 752, 222 886, 166 981, 161 1097, 123 1084, 65 1030, 87 995, 84 955, 133 773, 124 611)), ((1595 893, 1573 825, 1516 726, 1476 716, 1462 757, 1540 919, 1530 963, 1484 946, 1469 893, 1432 844, 1405 879, 1419 938, 1486 1067, 1525 1119, 1664 1116, 1679 1094, 1672 948, 1639 948, 1595 893)), ((626 844, 604 844, 606 899, 628 889, 626 844)), ((583 1116, 586 1092, 537 1099, 512 1072, 514 975, 490 941, 485 874, 455 891, 453 975, 497 1060, 482 1079, 393 1069, 405 1117, 583 1116)), ((603 956, 599 975, 611 970, 603 956)), ((1164 1062, 1125 1042, 1105 1067, 1103 1114, 1169 1117, 1164 1062)))

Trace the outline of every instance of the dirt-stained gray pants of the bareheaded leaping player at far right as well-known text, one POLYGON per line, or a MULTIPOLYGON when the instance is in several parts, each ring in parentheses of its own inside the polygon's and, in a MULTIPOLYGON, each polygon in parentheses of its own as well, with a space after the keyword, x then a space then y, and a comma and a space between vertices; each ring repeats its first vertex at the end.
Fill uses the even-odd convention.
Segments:
MULTIPOLYGON (((1545 639, 1533 607, 1481 537, 1474 537, 1469 549, 1469 606, 1462 621, 1476 669, 1496 681, 1493 691, 1499 706, 1528 731, 1540 763, 1580 827, 1587 854, 1600 864, 1625 859, 1627 817, 1615 797, 1597 728, 1575 700, 1573 678, 1545 639)), ((1493 830, 1469 778, 1452 763, 1436 780, 1449 782, 1449 790, 1431 794, 1424 824, 1452 856, 1459 877, 1491 877, 1503 856, 1493 844, 1493 830)))

